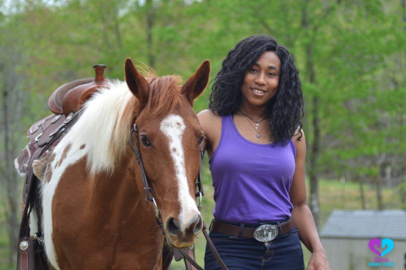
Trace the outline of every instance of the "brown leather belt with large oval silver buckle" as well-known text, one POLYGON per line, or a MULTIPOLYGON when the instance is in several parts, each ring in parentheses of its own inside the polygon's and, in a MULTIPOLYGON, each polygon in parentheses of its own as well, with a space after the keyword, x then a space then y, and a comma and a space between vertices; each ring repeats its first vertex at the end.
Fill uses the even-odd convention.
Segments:
POLYGON ((258 241, 267 242, 271 241, 276 236, 291 231, 294 226, 295 224, 293 223, 292 218, 289 218, 289 220, 280 224, 264 224, 257 228, 246 227, 244 224, 241 224, 240 226, 233 225, 213 219, 210 229, 225 234, 255 238, 258 241))

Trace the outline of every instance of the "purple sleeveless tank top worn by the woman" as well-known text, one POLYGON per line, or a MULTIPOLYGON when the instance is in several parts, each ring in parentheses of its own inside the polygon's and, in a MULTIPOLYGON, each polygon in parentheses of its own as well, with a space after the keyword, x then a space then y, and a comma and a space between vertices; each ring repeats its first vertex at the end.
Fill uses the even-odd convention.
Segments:
POLYGON ((222 135, 210 160, 216 219, 255 224, 291 216, 296 148, 292 139, 285 146, 273 144, 247 140, 233 115, 222 116, 222 135))

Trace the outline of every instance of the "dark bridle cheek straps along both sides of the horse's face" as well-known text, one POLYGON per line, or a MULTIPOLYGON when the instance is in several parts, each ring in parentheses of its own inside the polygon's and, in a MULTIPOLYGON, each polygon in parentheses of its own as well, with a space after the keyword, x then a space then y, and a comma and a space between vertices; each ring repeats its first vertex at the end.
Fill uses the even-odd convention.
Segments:
MULTIPOLYGON (((141 177, 142 177, 142 182, 144 184, 144 191, 145 191, 145 201, 152 201, 155 209, 155 219, 158 225, 162 228, 162 217, 159 212, 159 207, 158 204, 156 203, 156 198, 155 198, 155 193, 152 189, 152 186, 150 185, 148 178, 146 177, 145 170, 144 170, 144 165, 142 164, 142 159, 141 159, 141 153, 139 151, 139 135, 138 135, 138 129, 137 129, 137 124, 134 123, 133 127, 131 128, 130 131, 130 136, 128 138, 128 142, 130 143, 130 147, 132 151, 135 153, 137 156, 137 161, 141 169, 141 177), (132 145, 131 142, 131 137, 135 133, 135 148, 132 145)), ((196 178, 196 183, 194 187, 195 195, 196 197, 199 197, 199 204, 197 205, 197 209, 200 211, 201 209, 201 200, 203 196, 203 184, 201 182, 201 163, 203 159, 203 148, 200 146, 200 164, 199 164, 199 173, 197 174, 196 178)))

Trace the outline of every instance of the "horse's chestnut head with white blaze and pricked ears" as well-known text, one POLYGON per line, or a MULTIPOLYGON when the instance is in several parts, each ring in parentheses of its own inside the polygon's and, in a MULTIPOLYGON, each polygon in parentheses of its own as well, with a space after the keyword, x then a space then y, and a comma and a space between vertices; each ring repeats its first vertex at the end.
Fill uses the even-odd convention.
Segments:
MULTIPOLYGON (((193 244, 203 224, 195 202, 195 179, 204 134, 192 105, 206 88, 209 73, 210 63, 205 61, 179 86, 175 76, 151 77, 148 81, 131 59, 125 62, 127 85, 138 99, 135 123, 142 163, 167 241, 175 247, 193 244)), ((132 162, 140 171, 135 155, 132 162)), ((144 194, 142 179, 137 179, 137 184, 144 194)))

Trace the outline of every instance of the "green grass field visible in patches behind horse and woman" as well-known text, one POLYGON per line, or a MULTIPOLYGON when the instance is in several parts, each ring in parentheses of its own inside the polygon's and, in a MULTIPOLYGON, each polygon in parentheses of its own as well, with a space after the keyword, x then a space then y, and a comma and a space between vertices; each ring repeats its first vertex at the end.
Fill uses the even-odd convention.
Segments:
MULTIPOLYGON (((204 169, 204 179, 205 179, 205 196, 203 200, 202 215, 206 224, 210 224, 212 216, 212 211, 214 208, 213 201, 213 187, 211 185, 211 176, 208 168, 204 169)), ((359 195, 359 184, 353 182, 341 183, 336 180, 323 180, 319 182, 320 190, 320 229, 323 228, 325 222, 331 211, 333 209, 361 209, 361 199, 359 195)), ((365 200, 367 209, 376 209, 376 192, 373 186, 364 185, 365 190, 365 200)), ((309 190, 307 190, 309 193, 309 190)), ((15 269, 15 266, 10 266, 8 263, 8 237, 5 223, 5 199, 4 194, 1 194, 0 198, 0 270, 15 269)), ((391 188, 384 188, 382 192, 383 201, 385 208, 400 208, 399 196, 396 191, 391 188)), ((204 254, 205 254, 206 239, 200 234, 195 243, 195 251, 197 262, 200 265, 204 264, 204 254)), ((303 246, 305 263, 310 258, 311 253, 303 246)), ((173 260, 170 269, 184 269, 184 264, 182 261, 176 262, 173 260)))

